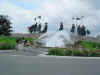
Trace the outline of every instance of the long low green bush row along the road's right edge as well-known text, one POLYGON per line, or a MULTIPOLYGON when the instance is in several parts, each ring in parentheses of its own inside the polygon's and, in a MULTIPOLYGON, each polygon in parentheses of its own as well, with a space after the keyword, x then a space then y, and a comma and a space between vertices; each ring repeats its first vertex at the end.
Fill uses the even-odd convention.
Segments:
POLYGON ((69 50, 69 49, 62 49, 62 48, 51 48, 48 51, 49 55, 56 55, 56 56, 84 56, 84 57, 99 57, 100 52, 96 50, 69 50))

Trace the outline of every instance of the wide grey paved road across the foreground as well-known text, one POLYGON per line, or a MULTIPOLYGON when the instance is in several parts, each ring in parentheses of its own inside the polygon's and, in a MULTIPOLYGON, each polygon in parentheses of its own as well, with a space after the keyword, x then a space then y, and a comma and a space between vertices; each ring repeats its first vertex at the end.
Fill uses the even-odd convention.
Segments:
POLYGON ((0 75, 100 75, 100 59, 0 55, 0 75))

